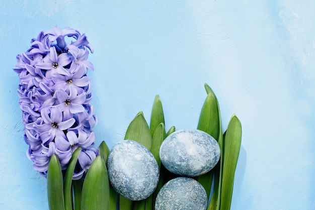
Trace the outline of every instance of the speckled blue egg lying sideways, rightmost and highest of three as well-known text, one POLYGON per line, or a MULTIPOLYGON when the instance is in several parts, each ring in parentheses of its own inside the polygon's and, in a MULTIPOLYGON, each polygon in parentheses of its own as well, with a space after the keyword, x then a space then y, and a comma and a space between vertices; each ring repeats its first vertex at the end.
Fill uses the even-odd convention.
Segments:
POLYGON ((220 154, 217 141, 197 129, 170 134, 160 148, 163 165, 180 176, 199 176, 210 171, 217 164, 220 154))

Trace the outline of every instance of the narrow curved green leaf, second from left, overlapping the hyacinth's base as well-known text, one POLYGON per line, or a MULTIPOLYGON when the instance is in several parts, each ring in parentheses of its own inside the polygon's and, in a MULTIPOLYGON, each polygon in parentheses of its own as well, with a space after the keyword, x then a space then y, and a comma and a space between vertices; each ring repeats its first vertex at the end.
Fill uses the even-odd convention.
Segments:
POLYGON ((76 161, 81 152, 81 147, 76 148, 73 152, 72 157, 70 159, 68 168, 65 172, 64 184, 63 184, 63 193, 64 193, 64 209, 72 210, 72 176, 74 172, 74 168, 76 165, 76 161))

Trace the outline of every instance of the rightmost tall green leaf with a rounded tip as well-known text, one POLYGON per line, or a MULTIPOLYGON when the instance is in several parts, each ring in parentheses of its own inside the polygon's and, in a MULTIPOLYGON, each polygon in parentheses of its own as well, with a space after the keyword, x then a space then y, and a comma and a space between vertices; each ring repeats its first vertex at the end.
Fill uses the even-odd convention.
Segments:
POLYGON ((234 174, 242 142, 242 125, 237 116, 233 115, 231 117, 223 141, 224 156, 220 210, 229 210, 232 200, 234 174))

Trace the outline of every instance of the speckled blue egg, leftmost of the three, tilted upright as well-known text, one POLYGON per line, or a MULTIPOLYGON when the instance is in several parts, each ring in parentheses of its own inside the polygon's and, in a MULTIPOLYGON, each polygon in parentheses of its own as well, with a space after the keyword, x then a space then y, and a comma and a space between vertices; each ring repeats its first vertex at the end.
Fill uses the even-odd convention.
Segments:
POLYGON ((131 140, 116 143, 107 160, 108 177, 113 188, 130 200, 150 196, 159 182, 159 166, 152 153, 131 140))

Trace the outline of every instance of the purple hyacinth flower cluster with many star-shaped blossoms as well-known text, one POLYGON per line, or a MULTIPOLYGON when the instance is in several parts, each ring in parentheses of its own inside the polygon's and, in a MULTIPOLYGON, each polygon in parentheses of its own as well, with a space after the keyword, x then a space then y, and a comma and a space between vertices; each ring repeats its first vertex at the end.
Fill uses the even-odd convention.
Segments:
POLYGON ((41 32, 30 48, 17 55, 18 95, 23 113, 27 156, 46 177, 50 157, 56 154, 66 169, 72 153, 82 148, 73 179, 83 177, 97 150, 93 148, 97 123, 87 70, 93 48, 80 30, 59 27, 41 32), (72 39, 66 43, 66 39, 72 39))

